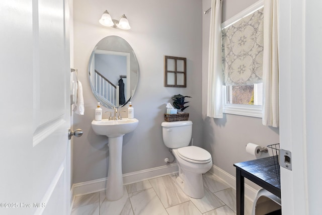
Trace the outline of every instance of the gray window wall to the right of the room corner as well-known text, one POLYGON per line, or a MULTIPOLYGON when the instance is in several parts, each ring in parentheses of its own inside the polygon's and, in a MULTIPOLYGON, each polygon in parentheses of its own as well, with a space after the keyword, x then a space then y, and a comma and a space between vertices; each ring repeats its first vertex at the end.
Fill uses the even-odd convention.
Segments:
MULTIPOLYGON (((222 21, 231 18, 256 0, 224 0, 222 21)), ((211 6, 211 0, 203 0, 203 11, 211 6)), ((212 155, 213 164, 235 176, 234 163, 253 160, 246 153, 246 145, 253 142, 262 147, 279 142, 279 129, 262 125, 261 118, 224 114, 222 119, 213 119, 207 114, 207 70, 210 14, 203 16, 202 43, 202 117, 204 148, 212 155)))

